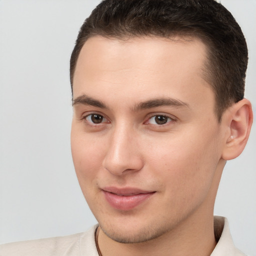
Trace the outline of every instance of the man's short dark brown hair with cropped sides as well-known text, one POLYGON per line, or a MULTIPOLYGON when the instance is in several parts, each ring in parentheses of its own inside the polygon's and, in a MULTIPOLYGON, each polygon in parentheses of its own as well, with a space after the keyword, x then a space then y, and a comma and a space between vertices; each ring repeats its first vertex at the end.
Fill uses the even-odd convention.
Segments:
POLYGON ((207 46, 204 78, 215 94, 218 121, 244 96, 248 51, 240 26, 215 0, 103 0, 82 24, 70 58, 72 89, 76 61, 93 35, 108 38, 175 35, 201 39, 207 46))

